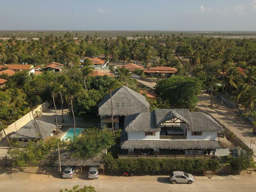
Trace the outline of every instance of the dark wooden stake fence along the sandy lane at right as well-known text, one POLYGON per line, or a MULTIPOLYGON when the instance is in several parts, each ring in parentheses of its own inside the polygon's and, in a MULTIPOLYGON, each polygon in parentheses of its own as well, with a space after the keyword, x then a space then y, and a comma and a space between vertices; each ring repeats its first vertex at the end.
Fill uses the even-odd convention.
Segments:
POLYGON ((242 141, 239 137, 237 137, 232 131, 230 131, 225 125, 220 123, 218 119, 216 119, 212 114, 208 113, 207 111, 204 111, 203 109, 200 109, 198 107, 195 107, 197 112, 202 112, 206 115, 211 116, 221 127, 224 129, 224 134, 227 139, 233 141, 236 145, 240 146, 242 149, 246 150, 250 155, 253 155, 252 149, 249 149, 249 147, 242 141))

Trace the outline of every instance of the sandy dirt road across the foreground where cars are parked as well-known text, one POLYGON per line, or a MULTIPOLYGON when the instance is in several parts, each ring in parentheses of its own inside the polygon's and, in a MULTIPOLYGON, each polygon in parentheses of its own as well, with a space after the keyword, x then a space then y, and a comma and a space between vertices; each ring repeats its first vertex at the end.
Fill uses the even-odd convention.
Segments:
MULTIPOLYGON (((247 173, 246 173, 247 174, 247 173)), ((255 174, 255 173, 254 173, 255 174)), ((24 170, 13 168, 2 168, 0 170, 0 188, 1 191, 11 192, 59 192, 60 189, 71 189, 75 185, 83 187, 94 186, 97 191, 104 192, 148 192, 148 191, 255 191, 255 177, 249 176, 245 180, 196 180, 192 185, 176 184, 169 182, 167 175, 156 176, 103 176, 99 179, 88 180, 87 173, 83 172, 73 179, 60 179, 57 171, 52 167, 38 168, 28 167, 24 170)))

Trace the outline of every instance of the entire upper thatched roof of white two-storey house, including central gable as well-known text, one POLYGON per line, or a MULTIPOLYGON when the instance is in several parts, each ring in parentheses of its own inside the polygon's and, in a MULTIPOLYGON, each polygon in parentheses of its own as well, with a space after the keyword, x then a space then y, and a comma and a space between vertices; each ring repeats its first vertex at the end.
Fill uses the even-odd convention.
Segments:
POLYGON ((153 112, 137 113, 125 117, 126 132, 160 131, 161 124, 178 118, 188 124, 192 132, 223 132, 223 128, 214 119, 201 112, 190 112, 188 109, 155 109, 153 112))

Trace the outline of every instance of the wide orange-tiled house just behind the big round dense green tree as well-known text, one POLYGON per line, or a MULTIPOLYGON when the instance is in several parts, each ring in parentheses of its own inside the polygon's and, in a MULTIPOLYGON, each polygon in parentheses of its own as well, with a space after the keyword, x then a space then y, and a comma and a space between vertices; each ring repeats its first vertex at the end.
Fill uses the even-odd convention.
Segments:
POLYGON ((151 67, 148 68, 144 73, 149 76, 160 77, 162 73, 166 75, 166 77, 170 77, 172 74, 177 73, 178 69, 172 67, 151 67))

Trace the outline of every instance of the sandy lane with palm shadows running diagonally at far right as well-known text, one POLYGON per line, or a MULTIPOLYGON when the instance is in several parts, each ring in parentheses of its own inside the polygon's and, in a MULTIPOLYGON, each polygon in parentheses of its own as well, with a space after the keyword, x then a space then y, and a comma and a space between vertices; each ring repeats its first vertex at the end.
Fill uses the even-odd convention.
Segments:
POLYGON ((252 123, 249 120, 245 120, 241 118, 241 115, 236 110, 229 107, 226 103, 221 103, 221 100, 216 96, 212 96, 212 108, 210 108, 211 104, 211 96, 208 93, 202 93, 199 95, 199 102, 197 103, 197 107, 203 110, 206 109, 208 113, 211 113, 216 119, 218 119, 221 123, 230 129, 237 137, 239 137, 244 143, 250 147, 251 140, 252 141, 252 150, 254 156, 256 156, 256 136, 252 133, 252 123), (254 144, 255 143, 255 144, 254 144))

